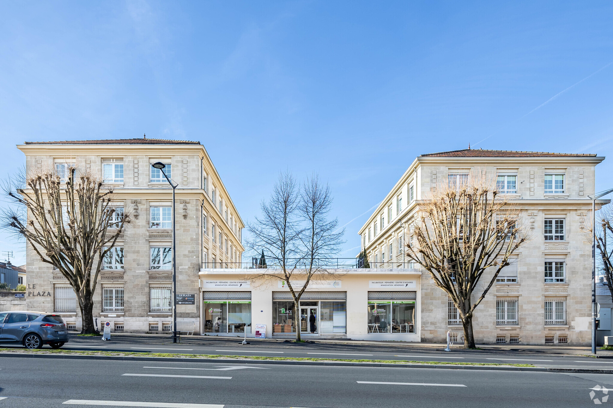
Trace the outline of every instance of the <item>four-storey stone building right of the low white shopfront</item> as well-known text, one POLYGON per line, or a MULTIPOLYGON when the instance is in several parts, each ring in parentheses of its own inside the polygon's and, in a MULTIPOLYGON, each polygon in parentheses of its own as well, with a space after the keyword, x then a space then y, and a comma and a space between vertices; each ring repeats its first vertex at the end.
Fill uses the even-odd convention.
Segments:
MULTIPOLYGON (((603 160, 593 154, 474 149, 421 155, 360 229, 362 249, 376 268, 418 269, 402 248, 420 202, 437 188, 490 180, 519 210, 518 222, 531 240, 478 306, 476 341, 589 344, 592 265, 584 222, 591 219, 595 166, 603 160)), ((447 295, 426 271, 420 280, 421 341, 444 341, 447 330, 461 332, 447 295)))

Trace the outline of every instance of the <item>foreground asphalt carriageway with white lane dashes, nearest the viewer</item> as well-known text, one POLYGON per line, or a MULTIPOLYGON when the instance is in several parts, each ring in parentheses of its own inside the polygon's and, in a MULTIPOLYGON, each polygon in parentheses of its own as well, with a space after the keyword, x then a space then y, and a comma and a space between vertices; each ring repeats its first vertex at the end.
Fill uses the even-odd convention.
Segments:
POLYGON ((0 358, 0 385, 0 408, 558 408, 606 402, 613 375, 0 358))

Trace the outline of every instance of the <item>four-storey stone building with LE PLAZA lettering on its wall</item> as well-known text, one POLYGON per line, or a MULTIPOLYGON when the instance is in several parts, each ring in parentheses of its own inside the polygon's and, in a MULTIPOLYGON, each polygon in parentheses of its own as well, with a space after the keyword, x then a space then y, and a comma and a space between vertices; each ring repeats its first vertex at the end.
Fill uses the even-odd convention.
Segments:
MULTIPOLYGON (((177 294, 200 297, 199 270, 207 262, 240 263, 244 226, 199 142, 162 139, 26 142, 26 171, 67 166, 104 177, 113 188, 113 204, 123 207, 132 222, 105 259, 96 287, 94 317, 99 327, 110 321, 115 331, 169 333, 172 287, 172 188, 151 163, 161 161, 178 183, 177 294)), ((51 265, 26 248, 28 310, 56 312, 80 330, 74 291, 51 265)), ((188 302, 189 303, 189 302, 188 302)), ((178 328, 200 333, 200 302, 177 306, 178 328)))

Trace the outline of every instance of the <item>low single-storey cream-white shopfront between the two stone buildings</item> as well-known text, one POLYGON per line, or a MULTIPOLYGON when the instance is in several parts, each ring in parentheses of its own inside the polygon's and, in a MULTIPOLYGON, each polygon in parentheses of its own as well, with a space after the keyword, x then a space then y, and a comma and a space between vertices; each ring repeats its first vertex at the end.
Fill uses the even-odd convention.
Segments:
MULTIPOLYGON (((248 269, 202 269, 200 333, 210 336, 419 341, 421 273, 414 269, 335 270, 312 280, 299 310, 287 283, 248 269)), ((296 276, 294 287, 305 280, 296 276)))

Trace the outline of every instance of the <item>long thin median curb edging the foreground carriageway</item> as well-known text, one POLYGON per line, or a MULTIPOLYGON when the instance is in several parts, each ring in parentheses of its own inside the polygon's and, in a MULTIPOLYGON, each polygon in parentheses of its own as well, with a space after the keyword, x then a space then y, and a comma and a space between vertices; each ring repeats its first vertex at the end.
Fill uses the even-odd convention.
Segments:
POLYGON ((241 358, 183 358, 183 357, 132 357, 121 355, 62 355, 62 354, 21 354, 0 353, 0 357, 17 358, 59 358, 65 360, 101 360, 127 362, 175 362, 175 363, 234 363, 234 364, 277 364, 341 367, 383 367, 383 368, 435 368, 435 369, 476 369, 490 371, 530 371, 533 373, 592 373, 613 374, 613 369, 589 368, 546 368, 546 367, 501 367, 501 366, 456 366, 430 364, 395 363, 350 363, 350 362, 303 362, 291 360, 243 360, 241 358))

